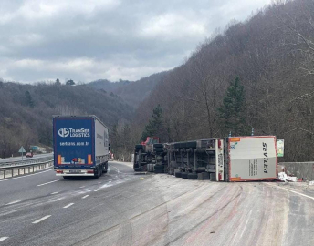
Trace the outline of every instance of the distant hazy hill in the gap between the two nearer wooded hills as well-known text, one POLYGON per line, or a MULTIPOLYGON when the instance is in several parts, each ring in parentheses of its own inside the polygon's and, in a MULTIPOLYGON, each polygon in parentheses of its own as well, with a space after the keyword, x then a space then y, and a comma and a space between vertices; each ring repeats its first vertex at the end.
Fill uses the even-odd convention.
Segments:
POLYGON ((140 103, 150 95, 152 89, 166 76, 168 72, 153 74, 149 77, 143 77, 140 80, 131 82, 120 80, 119 82, 110 82, 106 79, 87 84, 89 87, 103 89, 109 93, 120 96, 131 107, 138 108, 140 103))

